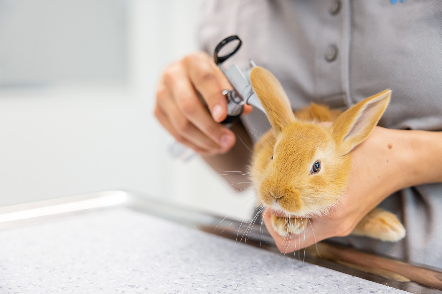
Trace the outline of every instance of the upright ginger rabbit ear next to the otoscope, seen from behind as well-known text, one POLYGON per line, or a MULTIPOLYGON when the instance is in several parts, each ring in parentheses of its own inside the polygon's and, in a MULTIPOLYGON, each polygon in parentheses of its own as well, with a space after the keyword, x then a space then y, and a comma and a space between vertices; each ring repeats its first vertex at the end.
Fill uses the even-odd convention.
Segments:
POLYGON ((289 98, 278 80, 263 67, 253 67, 250 82, 256 96, 267 112, 267 117, 275 133, 295 120, 289 98))

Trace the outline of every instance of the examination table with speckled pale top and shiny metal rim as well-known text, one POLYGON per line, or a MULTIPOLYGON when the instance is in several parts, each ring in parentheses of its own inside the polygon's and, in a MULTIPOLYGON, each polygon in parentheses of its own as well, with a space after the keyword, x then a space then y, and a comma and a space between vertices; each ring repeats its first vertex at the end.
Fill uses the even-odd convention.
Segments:
POLYGON ((104 191, 1 207, 0 293, 442 293, 438 269, 319 248, 303 262, 259 224, 104 191))

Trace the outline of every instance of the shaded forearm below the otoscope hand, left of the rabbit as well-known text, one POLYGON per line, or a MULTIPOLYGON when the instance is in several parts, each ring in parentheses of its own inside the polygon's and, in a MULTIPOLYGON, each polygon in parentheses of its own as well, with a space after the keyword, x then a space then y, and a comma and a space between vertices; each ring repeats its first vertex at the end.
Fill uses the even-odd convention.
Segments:
POLYGON ((236 134, 236 143, 223 155, 202 156, 213 170, 221 175, 235 190, 243 190, 250 186, 248 165, 250 164, 251 149, 253 144, 241 122, 232 126, 236 134))

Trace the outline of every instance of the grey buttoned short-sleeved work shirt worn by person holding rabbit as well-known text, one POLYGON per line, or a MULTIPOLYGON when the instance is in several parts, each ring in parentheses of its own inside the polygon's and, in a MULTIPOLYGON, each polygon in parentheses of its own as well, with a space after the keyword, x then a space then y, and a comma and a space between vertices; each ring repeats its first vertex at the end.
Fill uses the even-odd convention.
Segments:
MULTIPOLYGON (((243 47, 226 65, 244 69, 251 58, 266 67, 293 109, 311 101, 347 108, 389 88, 392 99, 380 126, 442 130, 441 0, 204 1, 201 48, 213 54, 232 34, 243 47)), ((254 140, 269 128, 257 110, 243 122, 254 140)), ((401 190, 381 206, 400 217, 404 240, 333 239, 442 268, 442 183, 401 190)))

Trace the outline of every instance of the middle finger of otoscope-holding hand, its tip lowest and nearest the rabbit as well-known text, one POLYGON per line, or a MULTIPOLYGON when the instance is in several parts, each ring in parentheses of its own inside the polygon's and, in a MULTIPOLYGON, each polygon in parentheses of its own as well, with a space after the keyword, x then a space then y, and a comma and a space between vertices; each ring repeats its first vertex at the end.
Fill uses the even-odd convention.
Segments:
POLYGON ((213 121, 206 107, 198 99, 189 77, 183 71, 175 71, 175 77, 166 82, 183 115, 203 134, 220 145, 221 153, 232 148, 235 135, 231 130, 213 121))

